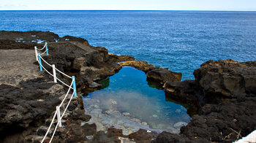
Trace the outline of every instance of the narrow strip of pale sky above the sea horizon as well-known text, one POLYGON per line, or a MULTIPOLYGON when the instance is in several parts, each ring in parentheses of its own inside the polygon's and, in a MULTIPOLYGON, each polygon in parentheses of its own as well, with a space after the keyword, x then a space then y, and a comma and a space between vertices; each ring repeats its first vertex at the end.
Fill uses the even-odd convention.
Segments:
POLYGON ((256 0, 0 0, 0 10, 256 11, 256 0))

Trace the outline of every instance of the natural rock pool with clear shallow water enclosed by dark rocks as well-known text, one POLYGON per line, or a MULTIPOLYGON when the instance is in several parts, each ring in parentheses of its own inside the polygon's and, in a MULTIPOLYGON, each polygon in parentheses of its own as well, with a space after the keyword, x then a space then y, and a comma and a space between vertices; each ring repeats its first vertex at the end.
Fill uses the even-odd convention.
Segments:
POLYGON ((143 71, 123 67, 117 74, 102 81, 103 89, 83 98, 89 123, 96 123, 97 131, 110 126, 131 134, 140 128, 179 133, 190 121, 187 109, 181 104, 165 100, 165 92, 151 88, 143 71))

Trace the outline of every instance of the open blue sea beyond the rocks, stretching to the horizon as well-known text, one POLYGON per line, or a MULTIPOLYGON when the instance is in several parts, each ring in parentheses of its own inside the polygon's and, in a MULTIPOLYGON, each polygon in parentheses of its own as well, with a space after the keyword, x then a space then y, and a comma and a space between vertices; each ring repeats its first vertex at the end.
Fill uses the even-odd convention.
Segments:
POLYGON ((256 12, 0 11, 0 30, 80 36, 182 72, 182 80, 210 59, 256 60, 256 12))

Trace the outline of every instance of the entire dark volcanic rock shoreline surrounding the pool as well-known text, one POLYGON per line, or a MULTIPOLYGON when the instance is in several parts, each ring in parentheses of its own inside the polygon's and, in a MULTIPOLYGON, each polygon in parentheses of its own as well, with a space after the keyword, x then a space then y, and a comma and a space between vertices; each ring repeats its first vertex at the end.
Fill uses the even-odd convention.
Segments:
MULTIPOLYGON (((45 56, 45 60, 74 75, 83 96, 99 90, 102 86, 99 81, 116 74, 122 66, 132 66, 144 71, 148 81, 159 83, 159 88, 163 86, 167 99, 182 104, 188 114, 193 115, 180 134, 164 131, 158 135, 140 130, 124 136, 116 128, 109 128, 105 133, 96 131, 95 124, 80 126, 81 122, 90 119, 89 115, 83 114, 80 96, 72 101, 64 121, 65 128, 59 129, 55 142, 121 142, 120 137, 124 142, 129 139, 135 142, 233 142, 239 135, 246 136, 256 129, 256 61, 207 61, 195 70, 195 80, 181 82, 181 73, 157 68, 146 61, 135 61, 128 55, 110 54, 104 47, 89 45, 86 39, 59 37, 41 31, 0 31, 0 50, 33 50, 34 46, 42 47, 40 42, 49 42, 50 55, 45 56)), ((69 82, 64 77, 59 78, 69 82)), ((38 142, 41 139, 39 135, 45 133, 42 125, 48 124, 47 119, 64 93, 63 87, 49 82, 51 80, 45 74, 34 80, 21 81, 16 86, 0 85, 3 142, 13 139, 38 142)))

